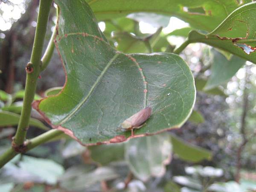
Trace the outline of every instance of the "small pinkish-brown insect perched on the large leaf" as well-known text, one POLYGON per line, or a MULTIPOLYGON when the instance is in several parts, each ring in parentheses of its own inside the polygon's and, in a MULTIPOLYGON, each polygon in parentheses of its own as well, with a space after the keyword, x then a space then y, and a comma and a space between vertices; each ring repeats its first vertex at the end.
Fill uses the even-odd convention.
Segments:
POLYGON ((131 136, 133 136, 133 129, 141 128, 143 122, 145 122, 151 116, 151 107, 146 107, 140 110, 138 113, 130 116, 121 123, 121 128, 126 130, 131 130, 131 136))

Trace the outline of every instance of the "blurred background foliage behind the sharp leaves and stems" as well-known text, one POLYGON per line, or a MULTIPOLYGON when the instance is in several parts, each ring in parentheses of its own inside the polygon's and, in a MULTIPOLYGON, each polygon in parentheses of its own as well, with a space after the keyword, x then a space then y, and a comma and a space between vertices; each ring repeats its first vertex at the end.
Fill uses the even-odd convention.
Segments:
MULTIPOLYGON (((11 144, 22 108, 24 68, 38 4, 37 0, 0 1, 0 153, 11 144)), ((52 9, 47 40, 55 22, 52 9)), ((192 29, 176 17, 148 13, 100 21, 99 27, 110 44, 125 53, 172 52, 192 29)), ((194 111, 182 128, 87 148, 62 135, 6 164, 0 170, 0 191, 256 190, 256 66, 198 43, 189 44, 180 56, 189 64, 197 88, 194 111)), ((55 51, 38 80, 35 99, 58 93, 64 81, 55 51), (48 90, 52 87, 57 89, 48 90)), ((29 138, 49 129, 41 120, 32 111, 29 138)))

